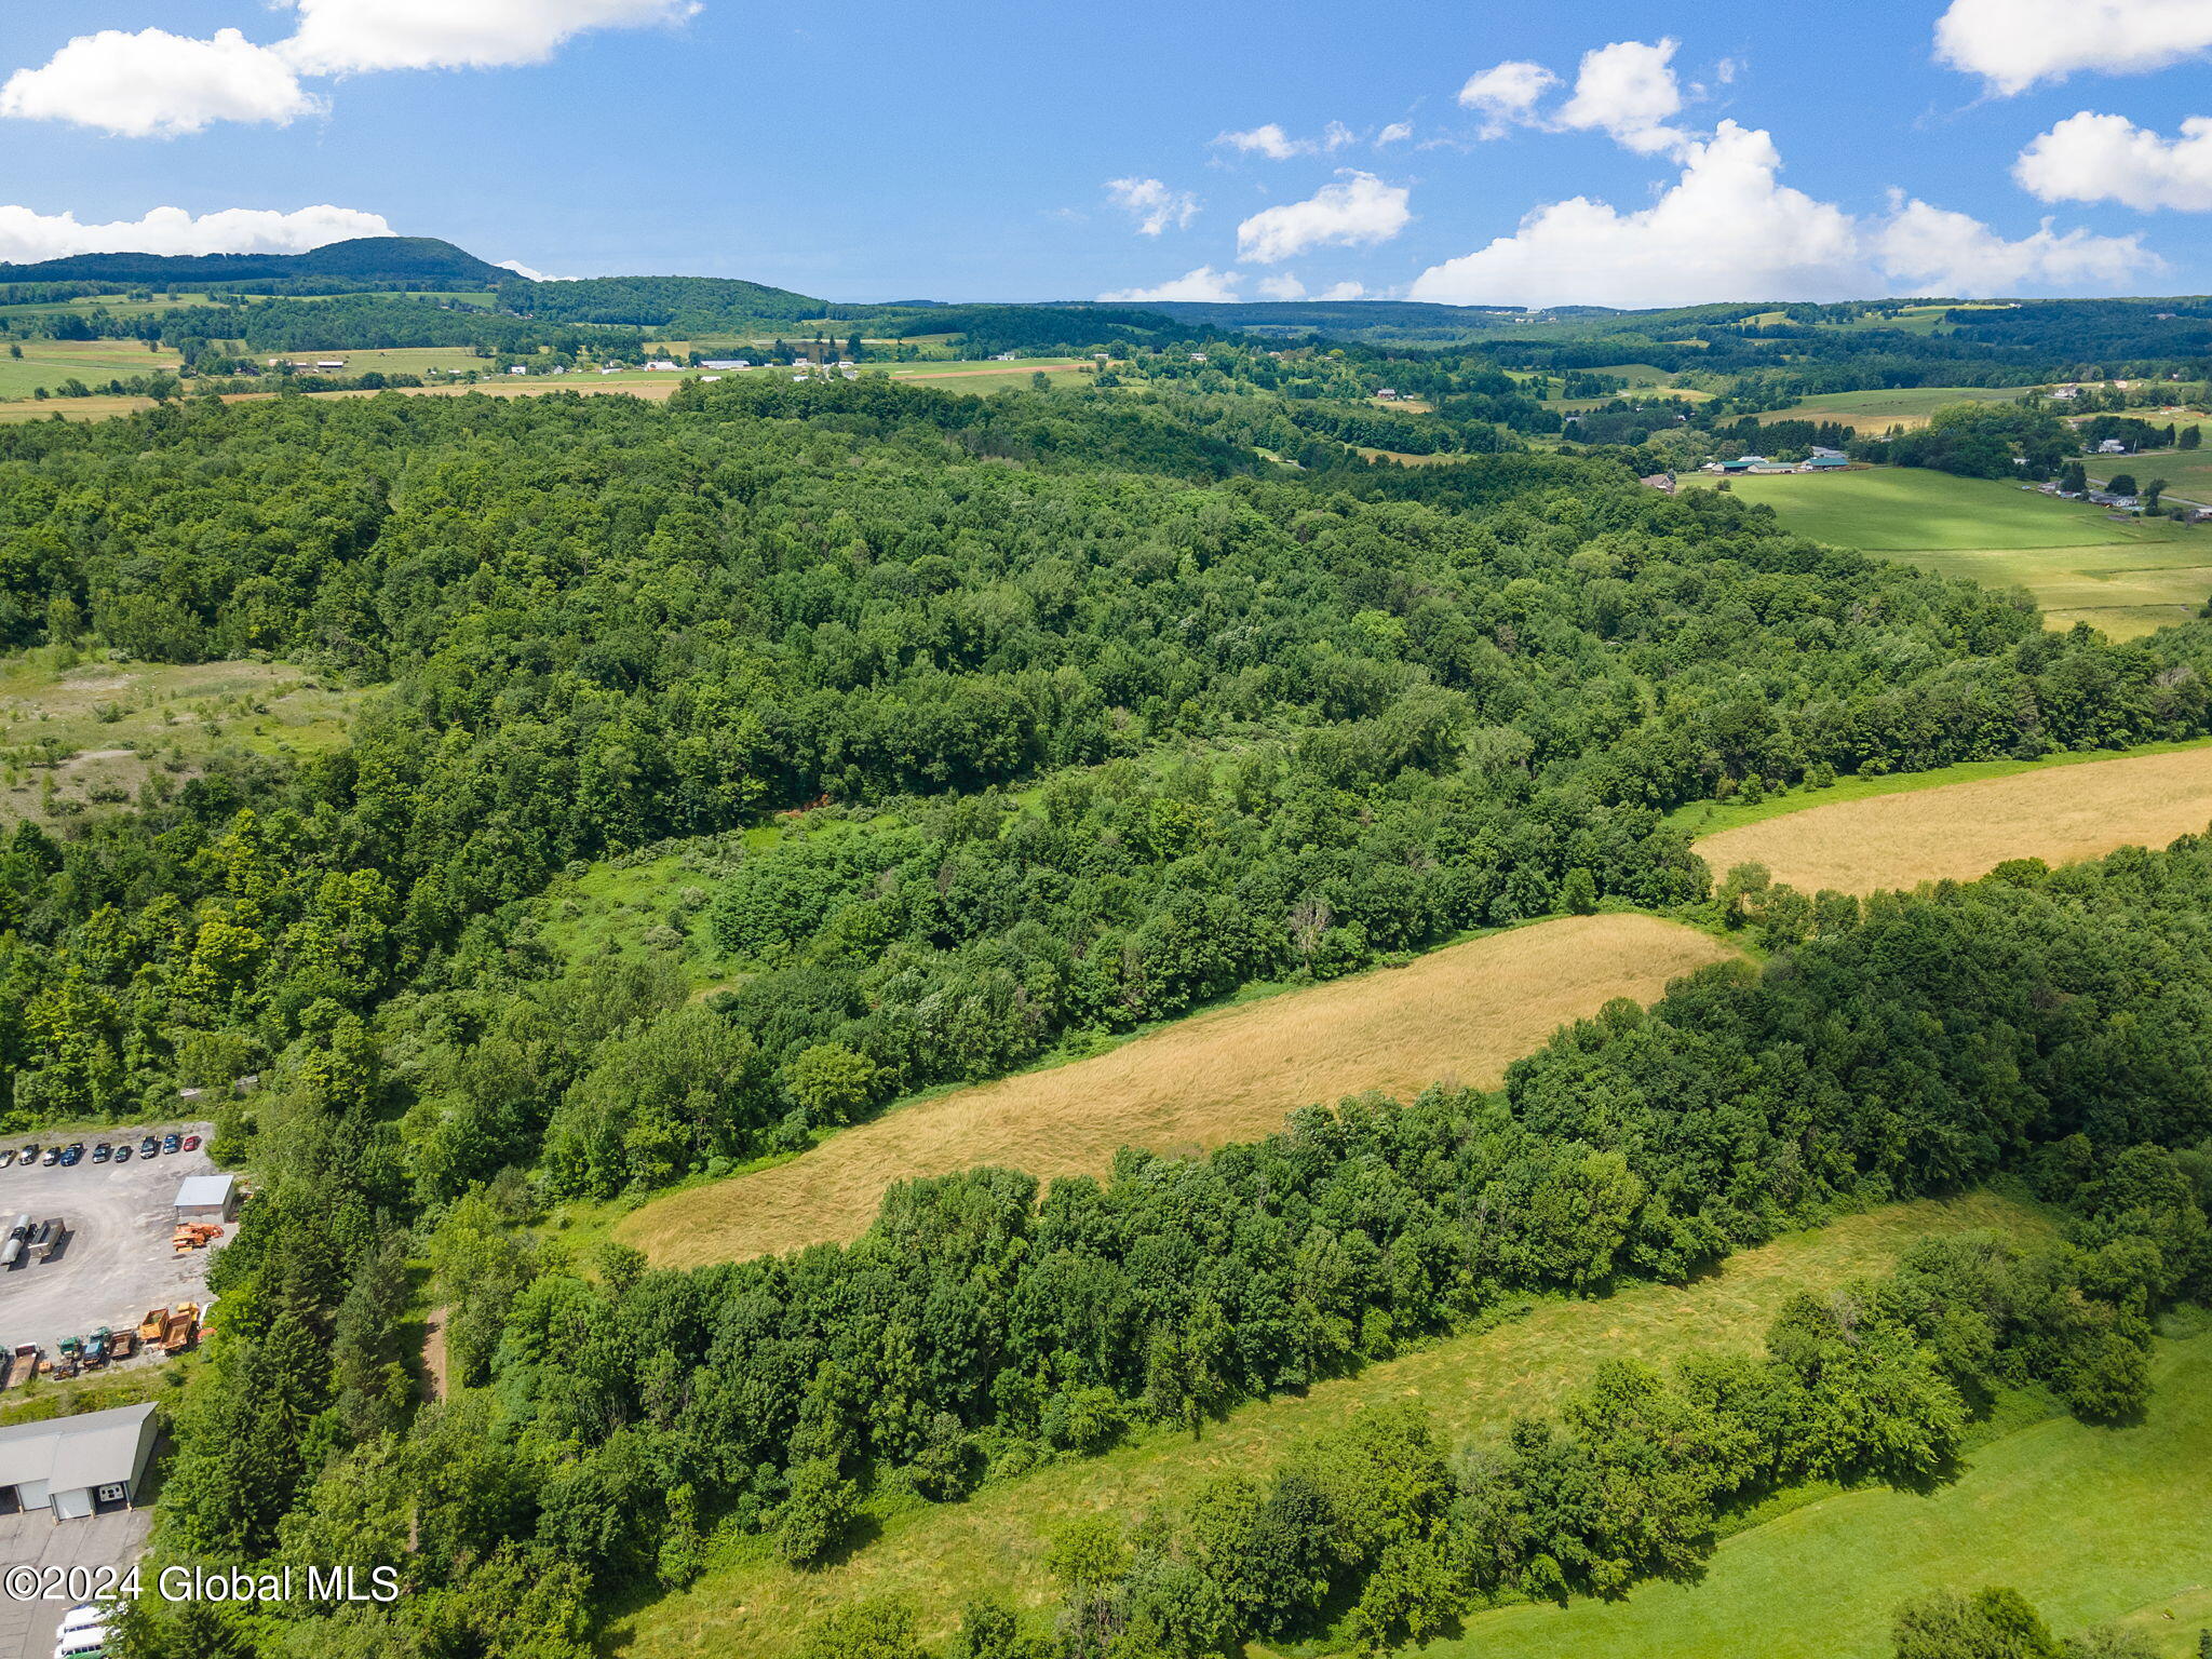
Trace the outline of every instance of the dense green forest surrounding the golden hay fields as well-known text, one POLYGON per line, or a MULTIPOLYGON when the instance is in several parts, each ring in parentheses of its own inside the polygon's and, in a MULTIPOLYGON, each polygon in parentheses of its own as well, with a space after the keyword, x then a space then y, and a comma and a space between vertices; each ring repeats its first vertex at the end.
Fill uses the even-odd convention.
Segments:
MULTIPOLYGON (((1604 458, 1301 473, 1243 422, 863 380, 0 431, 7 644, 378 686, 334 752, 0 854, 9 1121, 215 1088, 261 1186, 159 1546, 407 1559, 392 1615, 239 1639, 580 1652, 714 1524, 814 1559, 878 1480, 953 1500, 1513 1294, 1679 1276, 2073 1135, 2084 1168, 2205 1135, 2212 874, 2183 847, 1865 918, 1750 898, 1774 969, 1613 1011, 1502 1095, 1307 1113, 1042 1206, 958 1177, 849 1250, 688 1276, 540 1239, 549 1199, 1259 978, 1699 905, 1661 823, 1686 801, 2212 730, 2201 628, 2046 635, 1604 458), (577 860, 768 821, 699 896, 734 991, 544 945, 577 860), (411 1259, 449 1307, 434 1407, 411 1259)), ((2095 1340, 2137 1343, 2124 1312, 2190 1263, 2090 1281, 2095 1340)))

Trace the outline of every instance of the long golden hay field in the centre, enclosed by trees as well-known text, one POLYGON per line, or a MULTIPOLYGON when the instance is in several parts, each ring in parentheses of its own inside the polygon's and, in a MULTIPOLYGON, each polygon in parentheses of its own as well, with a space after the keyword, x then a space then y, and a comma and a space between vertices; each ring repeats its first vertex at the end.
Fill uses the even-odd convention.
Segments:
POLYGON ((1104 1172, 1121 1146, 1194 1152, 1259 1139, 1310 1102, 1438 1079, 1491 1086, 1566 1020, 1655 1000, 1728 947, 1655 916, 1568 916, 1451 945, 1400 969, 1203 1013, 1091 1060, 962 1088, 812 1152, 624 1217, 615 1237, 692 1267, 856 1239, 894 1181, 1002 1164, 1104 1172))

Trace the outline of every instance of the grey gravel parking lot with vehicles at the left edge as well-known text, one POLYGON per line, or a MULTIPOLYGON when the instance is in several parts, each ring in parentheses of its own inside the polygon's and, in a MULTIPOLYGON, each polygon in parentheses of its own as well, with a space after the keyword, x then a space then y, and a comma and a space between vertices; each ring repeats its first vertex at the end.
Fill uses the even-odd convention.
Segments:
MULTIPOLYGON (((177 1225, 177 1183, 188 1175, 212 1175, 206 1124, 161 1124, 150 1133, 199 1135, 197 1152, 137 1157, 128 1164, 93 1164, 91 1148, 102 1139, 137 1139, 148 1128, 82 1133, 84 1161, 71 1170, 60 1164, 0 1170, 0 1237, 7 1221, 29 1214, 38 1221, 60 1217, 69 1228, 62 1250, 46 1261, 24 1252, 11 1267, 0 1267, 0 1347, 38 1343, 53 1354, 62 1336, 82 1336, 97 1325, 137 1325, 148 1307, 181 1301, 206 1303, 208 1256, 228 1243, 190 1254, 170 1254, 168 1234, 177 1225)), ((0 1150, 22 1148, 31 1135, 0 1139, 0 1150)), ((40 1137, 51 1146, 49 1137, 40 1137)), ((66 1141, 64 1141, 66 1144, 66 1141)))

